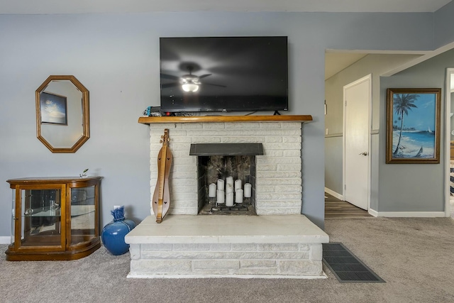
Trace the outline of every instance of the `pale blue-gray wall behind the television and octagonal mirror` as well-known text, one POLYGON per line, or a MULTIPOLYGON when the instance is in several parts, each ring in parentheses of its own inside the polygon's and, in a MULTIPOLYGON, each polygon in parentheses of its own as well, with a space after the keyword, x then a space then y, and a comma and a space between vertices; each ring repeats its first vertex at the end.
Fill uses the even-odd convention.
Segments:
MULTIPOLYGON (((0 180, 104 176, 101 224, 114 205, 150 214, 148 127, 159 104, 160 36, 287 35, 289 114, 304 126, 303 212, 324 220, 324 51, 428 50, 432 13, 137 13, 0 15, 0 180), (35 138, 35 89, 49 75, 74 75, 89 89, 91 138, 74 154, 53 154, 35 138)), ((272 72, 272 71, 270 71, 272 72)), ((0 186, 0 236, 11 232, 11 189, 0 186)))

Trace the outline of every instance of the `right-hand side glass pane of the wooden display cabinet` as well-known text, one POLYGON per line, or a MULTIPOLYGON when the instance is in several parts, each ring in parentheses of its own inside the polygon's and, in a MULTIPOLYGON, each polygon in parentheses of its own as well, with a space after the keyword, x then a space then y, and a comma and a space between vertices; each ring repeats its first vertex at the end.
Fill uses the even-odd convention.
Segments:
POLYGON ((71 245, 96 238, 96 187, 71 188, 71 245))

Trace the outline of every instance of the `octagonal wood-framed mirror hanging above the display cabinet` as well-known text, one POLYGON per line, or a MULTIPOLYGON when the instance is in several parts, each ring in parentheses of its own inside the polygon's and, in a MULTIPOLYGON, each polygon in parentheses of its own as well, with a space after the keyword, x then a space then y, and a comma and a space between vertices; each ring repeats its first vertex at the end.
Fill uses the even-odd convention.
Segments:
POLYGON ((74 76, 49 76, 35 95, 38 139, 52 153, 75 153, 90 138, 88 90, 74 76))

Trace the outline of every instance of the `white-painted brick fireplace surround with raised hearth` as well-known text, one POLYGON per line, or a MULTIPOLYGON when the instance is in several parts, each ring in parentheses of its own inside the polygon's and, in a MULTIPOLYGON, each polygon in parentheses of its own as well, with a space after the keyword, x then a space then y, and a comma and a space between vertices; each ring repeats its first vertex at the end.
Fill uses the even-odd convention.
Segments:
POLYGON ((126 236, 128 277, 324 277, 321 243, 328 235, 301 215, 301 127, 301 121, 150 123, 150 195, 160 136, 169 129, 170 211, 157 224, 151 210, 126 236), (262 143, 264 154, 255 158, 258 216, 197 216, 192 143, 262 143))

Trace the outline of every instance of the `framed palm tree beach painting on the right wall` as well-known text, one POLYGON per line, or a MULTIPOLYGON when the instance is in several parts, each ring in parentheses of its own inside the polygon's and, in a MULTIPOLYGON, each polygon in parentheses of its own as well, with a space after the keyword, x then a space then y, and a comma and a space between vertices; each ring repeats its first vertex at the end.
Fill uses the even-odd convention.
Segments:
POLYGON ((387 89, 387 163, 440 162, 441 89, 387 89))

